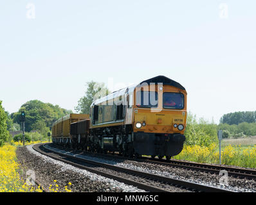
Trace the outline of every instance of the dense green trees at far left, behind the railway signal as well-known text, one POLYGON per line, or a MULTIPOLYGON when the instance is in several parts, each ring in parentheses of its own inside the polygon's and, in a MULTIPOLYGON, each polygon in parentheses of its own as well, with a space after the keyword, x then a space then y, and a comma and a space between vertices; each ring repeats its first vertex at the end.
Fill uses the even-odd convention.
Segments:
POLYGON ((71 110, 60 108, 59 105, 33 100, 24 103, 19 111, 10 114, 5 111, 0 101, 0 147, 6 141, 22 139, 21 134, 14 138, 10 135, 12 131, 21 130, 21 111, 25 111, 25 136, 28 141, 48 138, 47 133, 50 132, 53 122, 72 113, 71 110))

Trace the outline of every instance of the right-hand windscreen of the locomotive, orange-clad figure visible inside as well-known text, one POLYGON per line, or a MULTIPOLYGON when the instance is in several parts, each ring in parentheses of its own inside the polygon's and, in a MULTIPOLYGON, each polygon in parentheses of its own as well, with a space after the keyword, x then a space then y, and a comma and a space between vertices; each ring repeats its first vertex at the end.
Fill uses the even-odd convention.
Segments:
POLYGON ((180 93, 163 93, 163 108, 178 109, 184 108, 184 95, 180 93))

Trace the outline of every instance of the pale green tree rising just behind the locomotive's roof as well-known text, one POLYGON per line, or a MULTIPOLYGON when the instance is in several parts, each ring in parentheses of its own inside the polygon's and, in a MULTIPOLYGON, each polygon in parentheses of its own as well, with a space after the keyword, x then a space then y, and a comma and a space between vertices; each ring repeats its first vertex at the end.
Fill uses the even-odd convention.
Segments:
POLYGON ((87 82, 86 95, 79 99, 75 110, 80 113, 89 114, 91 103, 110 93, 110 90, 105 87, 104 83, 87 82))

